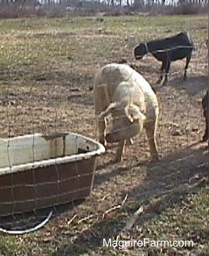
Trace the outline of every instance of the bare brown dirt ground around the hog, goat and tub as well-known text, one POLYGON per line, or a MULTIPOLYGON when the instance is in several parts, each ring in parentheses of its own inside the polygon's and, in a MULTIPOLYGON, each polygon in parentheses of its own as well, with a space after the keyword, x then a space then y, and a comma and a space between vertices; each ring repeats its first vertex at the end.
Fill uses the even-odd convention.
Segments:
MULTIPOLYGON (((106 37, 113 39, 114 35, 106 37)), ((126 147, 121 164, 111 162, 115 149, 107 149, 98 158, 90 198, 73 208, 67 206, 61 213, 57 207, 56 217, 44 229, 19 238, 19 244, 25 241, 30 243, 29 248, 33 248, 31 255, 88 255, 81 249, 83 246, 94 251, 95 254, 89 255, 119 255, 100 251, 101 239, 109 234, 115 236, 121 230, 130 209, 120 215, 118 222, 116 217, 118 212, 121 213, 120 209, 115 208, 108 213, 109 209, 121 204, 127 194, 125 208, 126 205, 137 208, 142 200, 168 194, 184 184, 198 183, 208 175, 208 148, 206 143, 200 143, 205 129, 202 96, 208 88, 206 46, 202 44, 193 54, 186 81, 183 81, 185 60, 172 64, 167 86, 155 83, 160 65, 153 56, 149 55, 140 62, 130 58, 130 62, 137 65, 140 73, 150 82, 159 100, 157 145, 160 162, 150 162, 145 133, 136 136, 134 145, 126 147), (88 219, 79 222, 85 217, 88 219), (111 225, 113 220, 114 225, 111 225)), ((35 82, 30 86, 22 85, 15 77, 10 84, 2 84, 1 137, 70 131, 97 139, 94 100, 90 90, 97 68, 96 63, 94 66, 75 67, 72 62, 60 61, 58 65, 45 68, 43 76, 37 75, 34 67, 32 70, 26 67, 22 75, 24 72, 35 74, 35 82), (64 77, 63 70, 68 71, 70 80, 64 77)), ((2 68, 1 72, 8 77, 14 75, 14 72, 10 73, 10 68, 2 68)), ((130 251, 128 255, 143 255, 143 252, 130 251)))

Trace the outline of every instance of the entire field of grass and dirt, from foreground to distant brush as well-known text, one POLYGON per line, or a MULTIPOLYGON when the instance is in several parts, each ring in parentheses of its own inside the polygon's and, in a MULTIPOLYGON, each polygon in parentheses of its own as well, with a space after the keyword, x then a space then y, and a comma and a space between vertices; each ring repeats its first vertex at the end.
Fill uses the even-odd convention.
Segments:
POLYGON ((67 207, 38 232, 1 235, 0 255, 209 255, 209 161, 206 144, 199 143, 208 86, 207 24, 206 16, 0 20, 1 137, 69 130, 96 139, 89 90, 94 74, 126 58, 157 92, 161 153, 159 163, 149 162, 145 134, 126 148, 121 164, 110 163, 115 151, 109 149, 98 161, 90 198, 67 207), (168 86, 159 88, 159 62, 151 55, 136 62, 133 48, 180 31, 189 32, 196 48, 188 79, 183 81, 185 60, 180 60, 172 65, 168 86), (114 208, 126 194, 123 206, 114 208), (194 246, 104 248, 102 238, 115 238, 140 206, 143 211, 124 240, 183 239, 194 246))

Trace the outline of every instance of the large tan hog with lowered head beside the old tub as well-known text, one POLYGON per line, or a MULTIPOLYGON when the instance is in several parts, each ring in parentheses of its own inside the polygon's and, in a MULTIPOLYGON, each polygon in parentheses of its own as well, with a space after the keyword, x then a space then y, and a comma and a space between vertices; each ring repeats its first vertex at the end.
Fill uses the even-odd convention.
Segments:
POLYGON ((99 141, 118 142, 116 162, 120 162, 126 141, 145 128, 152 160, 158 160, 155 134, 159 108, 149 83, 130 66, 111 63, 94 79, 94 107, 98 116, 99 141), (113 128, 106 134, 106 116, 113 116, 113 128))

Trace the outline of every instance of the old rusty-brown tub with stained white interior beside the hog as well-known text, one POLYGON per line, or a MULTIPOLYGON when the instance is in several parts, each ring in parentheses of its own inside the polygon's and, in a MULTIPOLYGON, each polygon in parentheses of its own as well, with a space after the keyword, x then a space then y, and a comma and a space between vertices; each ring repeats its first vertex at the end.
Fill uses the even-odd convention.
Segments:
POLYGON ((0 216, 86 198, 104 151, 69 132, 0 139, 0 216))

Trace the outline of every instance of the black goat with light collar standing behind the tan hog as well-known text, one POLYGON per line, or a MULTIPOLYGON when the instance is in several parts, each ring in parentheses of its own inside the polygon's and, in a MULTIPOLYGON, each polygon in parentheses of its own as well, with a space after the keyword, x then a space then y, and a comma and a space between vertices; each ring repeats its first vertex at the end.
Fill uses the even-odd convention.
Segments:
POLYGON ((193 42, 187 33, 178 33, 172 37, 140 43, 134 49, 136 60, 140 60, 149 52, 153 54, 157 60, 162 62, 160 81, 163 79, 163 71, 165 71, 164 84, 168 81, 168 72, 170 70, 170 62, 187 58, 185 66, 184 79, 187 77, 187 67, 191 59, 191 52, 194 49, 193 42))

